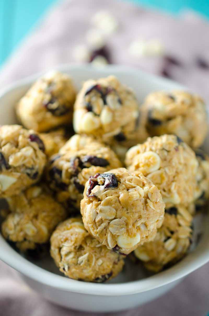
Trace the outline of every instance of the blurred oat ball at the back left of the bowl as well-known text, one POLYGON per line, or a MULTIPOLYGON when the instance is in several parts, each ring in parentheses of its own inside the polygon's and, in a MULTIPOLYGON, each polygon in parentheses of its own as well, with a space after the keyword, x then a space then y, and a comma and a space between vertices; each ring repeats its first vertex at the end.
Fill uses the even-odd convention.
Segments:
POLYGON ((68 75, 51 71, 37 80, 16 106, 22 125, 45 132, 72 123, 75 87, 68 75))

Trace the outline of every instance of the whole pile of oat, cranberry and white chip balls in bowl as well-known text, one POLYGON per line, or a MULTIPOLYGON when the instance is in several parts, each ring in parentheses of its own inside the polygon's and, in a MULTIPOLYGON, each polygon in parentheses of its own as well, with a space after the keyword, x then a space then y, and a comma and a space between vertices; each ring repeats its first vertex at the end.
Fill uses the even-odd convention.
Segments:
POLYGON ((154 92, 139 106, 115 76, 76 95, 69 76, 50 72, 16 114, 22 126, 0 127, 0 197, 2 234, 19 251, 51 242, 60 271, 88 282, 117 276, 131 252, 155 272, 188 252, 209 198, 198 96, 154 92))

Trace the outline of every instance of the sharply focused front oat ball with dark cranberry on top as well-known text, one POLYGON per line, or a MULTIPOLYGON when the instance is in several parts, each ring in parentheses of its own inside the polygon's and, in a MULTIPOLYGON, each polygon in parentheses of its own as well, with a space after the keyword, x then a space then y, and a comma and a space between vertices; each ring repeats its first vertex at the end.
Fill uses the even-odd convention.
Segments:
POLYGON ((158 188, 125 168, 90 177, 81 201, 86 229, 108 249, 128 254, 152 240, 164 217, 158 188))

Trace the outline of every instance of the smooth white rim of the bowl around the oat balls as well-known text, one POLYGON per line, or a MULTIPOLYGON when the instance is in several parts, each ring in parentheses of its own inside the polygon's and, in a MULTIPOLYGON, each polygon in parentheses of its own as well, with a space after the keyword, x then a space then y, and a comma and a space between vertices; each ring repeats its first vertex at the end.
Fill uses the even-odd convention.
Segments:
MULTIPOLYGON (((62 64, 57 67, 53 67, 53 69, 63 72, 70 72, 72 70, 82 70, 89 71, 91 73, 95 73, 98 69, 93 67, 92 65, 77 65, 77 64, 62 64)), ((162 85, 171 84, 180 89, 187 89, 183 85, 180 85, 170 79, 158 77, 140 69, 134 69, 127 66, 120 65, 108 65, 104 68, 100 68, 99 72, 104 73, 104 75, 108 75, 111 73, 114 74, 124 74, 128 72, 128 74, 132 74, 134 76, 139 76, 141 78, 147 78, 147 80, 153 80, 161 82, 162 85)), ((3 97, 8 94, 14 92, 16 89, 20 89, 34 80, 36 80, 43 73, 35 74, 33 76, 29 76, 27 78, 16 81, 7 87, 0 90, 0 103, 3 97)), ((207 216, 204 225, 209 224, 209 218, 207 216)), ((43 268, 40 268, 36 264, 28 261, 24 257, 22 257, 18 252, 12 249, 9 244, 3 239, 0 235, 0 245, 2 244, 4 247, 4 251, 0 252, 0 259, 14 268, 15 270, 21 272, 23 275, 27 276, 30 279, 33 279, 36 282, 42 283, 46 286, 50 286, 56 289, 89 294, 89 295, 104 295, 104 296, 119 296, 119 295, 133 295, 140 292, 145 292, 148 290, 156 289, 168 283, 174 282, 182 277, 188 275, 192 271, 201 267, 209 261, 209 238, 208 234, 204 234, 200 244, 197 246, 194 252, 189 253, 184 259, 182 259, 179 263, 175 264, 171 268, 159 272, 155 275, 149 276, 145 279, 130 281, 124 283, 117 284, 99 284, 99 283, 90 283, 90 282, 82 282, 73 279, 69 279, 65 276, 59 276, 52 272, 49 272, 43 268), (8 251, 7 251, 8 250, 8 251), (10 253, 12 255, 10 255, 10 253)))

